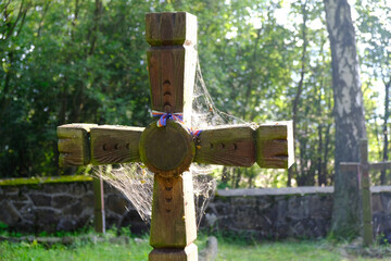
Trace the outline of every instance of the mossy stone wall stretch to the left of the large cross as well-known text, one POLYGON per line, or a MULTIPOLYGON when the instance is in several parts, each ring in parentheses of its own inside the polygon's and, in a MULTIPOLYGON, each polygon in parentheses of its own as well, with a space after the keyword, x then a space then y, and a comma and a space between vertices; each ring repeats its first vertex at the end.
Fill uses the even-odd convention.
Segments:
MULTIPOLYGON (((106 184, 104 203, 108 227, 131 225, 134 233, 148 231, 127 199, 106 184)), ((0 187, 0 222, 11 229, 30 233, 75 231, 92 225, 92 183, 0 187)))

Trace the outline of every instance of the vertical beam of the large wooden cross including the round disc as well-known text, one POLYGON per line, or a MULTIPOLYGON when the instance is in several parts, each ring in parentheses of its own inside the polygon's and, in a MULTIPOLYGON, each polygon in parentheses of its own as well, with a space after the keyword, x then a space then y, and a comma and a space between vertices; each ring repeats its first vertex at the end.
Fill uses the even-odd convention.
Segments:
MULTIPOLYGON (((147 59, 152 110, 182 113, 186 123, 191 120, 197 17, 185 12, 149 13, 146 23, 147 41, 151 45, 147 59)), ((154 249, 150 261, 198 260, 192 179, 191 173, 185 172, 193 159, 194 146, 191 138, 184 137, 191 136, 172 122, 164 129, 150 125, 141 136, 141 160, 155 173, 150 232, 154 249)))

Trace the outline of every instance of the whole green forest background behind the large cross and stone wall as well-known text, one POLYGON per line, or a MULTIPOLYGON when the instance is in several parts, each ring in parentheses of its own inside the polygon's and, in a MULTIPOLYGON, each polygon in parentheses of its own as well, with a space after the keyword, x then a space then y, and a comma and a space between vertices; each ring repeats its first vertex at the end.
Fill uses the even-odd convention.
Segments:
MULTIPOLYGON (((369 161, 388 160, 391 8, 351 2, 369 161)), ((215 105, 249 122, 293 120, 288 171, 224 167, 220 187, 333 185, 331 53, 315 0, 2 0, 0 177, 84 172, 58 167, 56 126, 151 121, 144 14, 198 16, 198 51, 215 105)), ((373 175, 390 184, 390 173, 373 175)))

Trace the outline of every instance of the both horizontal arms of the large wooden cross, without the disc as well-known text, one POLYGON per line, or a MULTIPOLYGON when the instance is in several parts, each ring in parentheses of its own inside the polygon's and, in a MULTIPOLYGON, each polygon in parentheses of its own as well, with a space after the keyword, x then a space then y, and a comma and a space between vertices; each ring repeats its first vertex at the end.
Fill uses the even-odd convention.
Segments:
MULTIPOLYGON (((58 127, 61 165, 139 162, 144 128, 67 124, 58 127)), ((218 126, 202 130, 195 140, 194 162, 287 169, 293 163, 291 122, 218 126)))

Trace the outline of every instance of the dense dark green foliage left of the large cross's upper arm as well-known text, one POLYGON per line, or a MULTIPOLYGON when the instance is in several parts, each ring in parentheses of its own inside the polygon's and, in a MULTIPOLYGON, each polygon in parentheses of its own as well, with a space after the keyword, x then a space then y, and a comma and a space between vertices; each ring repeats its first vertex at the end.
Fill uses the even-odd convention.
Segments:
POLYGON ((96 2, 2 3, 1 176, 58 173, 58 125, 147 123, 150 3, 96 2))

